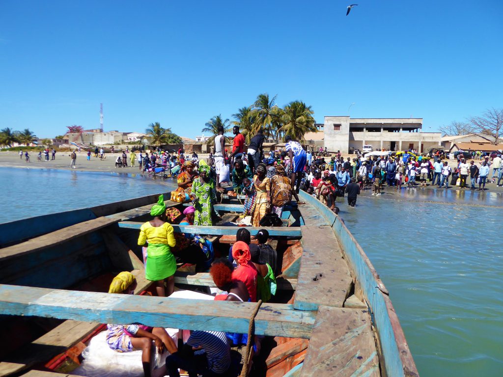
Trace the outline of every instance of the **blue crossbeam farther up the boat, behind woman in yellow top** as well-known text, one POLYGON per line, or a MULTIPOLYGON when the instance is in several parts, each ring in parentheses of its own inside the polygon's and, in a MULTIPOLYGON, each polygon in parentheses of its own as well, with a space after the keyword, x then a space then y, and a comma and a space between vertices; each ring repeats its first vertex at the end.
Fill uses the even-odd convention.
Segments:
MULTIPOLYGON (((140 229, 143 223, 134 221, 121 221, 120 228, 140 229)), ((236 235, 240 227, 219 227, 219 226, 191 226, 173 224, 173 229, 178 233, 209 234, 214 236, 236 235)), ((261 229, 267 229, 270 236, 301 237, 299 227, 246 227, 251 234, 257 234, 261 229)))

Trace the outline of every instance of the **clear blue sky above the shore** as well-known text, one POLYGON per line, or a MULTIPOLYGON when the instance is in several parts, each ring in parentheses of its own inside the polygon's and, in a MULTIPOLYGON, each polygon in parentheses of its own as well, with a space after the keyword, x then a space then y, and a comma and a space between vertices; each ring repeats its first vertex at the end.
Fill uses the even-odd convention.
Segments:
MULTIPOLYGON (((353 1, 353 0, 351 0, 353 1)), ((201 134, 256 96, 327 115, 424 118, 503 107, 503 2, 0 2, 0 129, 201 134)))

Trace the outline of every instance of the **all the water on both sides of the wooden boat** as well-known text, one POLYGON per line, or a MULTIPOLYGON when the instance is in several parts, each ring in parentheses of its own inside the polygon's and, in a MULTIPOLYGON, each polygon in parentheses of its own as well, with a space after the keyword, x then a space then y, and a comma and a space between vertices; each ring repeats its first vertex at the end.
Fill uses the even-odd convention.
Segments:
MULTIPOLYGON (((156 194, 141 174, 0 168, 0 223, 156 194)), ((369 256, 422 376, 503 375, 499 194, 402 190, 341 216, 369 256)))

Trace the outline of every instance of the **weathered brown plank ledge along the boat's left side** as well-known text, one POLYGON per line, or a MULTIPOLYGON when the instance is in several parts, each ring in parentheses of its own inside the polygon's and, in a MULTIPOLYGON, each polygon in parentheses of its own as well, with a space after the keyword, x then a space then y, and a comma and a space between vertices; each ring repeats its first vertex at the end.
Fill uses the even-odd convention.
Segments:
POLYGON ((34 253, 38 250, 42 250, 50 246, 59 245, 63 242, 67 242, 74 238, 105 228, 111 224, 116 223, 117 221, 118 220, 116 219, 100 217, 98 219, 88 220, 82 223, 71 225, 69 227, 32 238, 29 241, 0 249, 0 259, 7 259, 14 256, 34 253))

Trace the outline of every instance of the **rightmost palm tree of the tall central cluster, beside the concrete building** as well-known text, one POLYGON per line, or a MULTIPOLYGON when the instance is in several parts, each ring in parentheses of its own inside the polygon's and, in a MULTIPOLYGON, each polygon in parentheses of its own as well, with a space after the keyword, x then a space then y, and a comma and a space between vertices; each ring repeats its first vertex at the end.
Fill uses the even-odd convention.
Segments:
POLYGON ((282 121, 283 135, 290 135, 294 140, 302 140, 306 132, 316 132, 316 126, 310 106, 301 101, 292 101, 285 106, 282 121))

